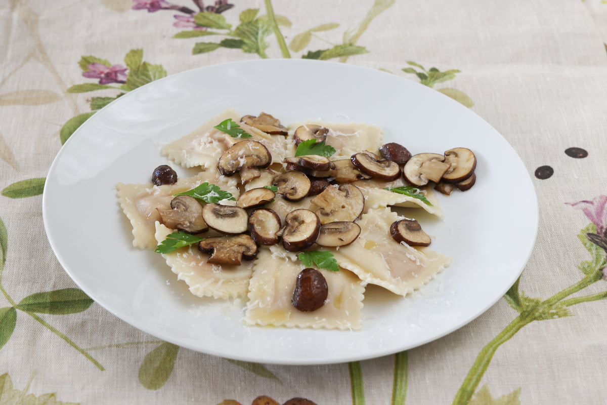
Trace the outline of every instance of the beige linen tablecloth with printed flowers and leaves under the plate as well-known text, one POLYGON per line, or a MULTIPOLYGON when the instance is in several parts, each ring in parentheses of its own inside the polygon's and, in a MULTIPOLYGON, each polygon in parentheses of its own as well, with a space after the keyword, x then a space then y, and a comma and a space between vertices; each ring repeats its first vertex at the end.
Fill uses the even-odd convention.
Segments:
POLYGON ((0 403, 605 403, 606 3, 0 0, 0 403), (274 14, 280 33, 266 28, 267 47, 220 43, 196 36, 203 12, 233 27, 274 14), (44 179, 63 141, 149 81, 288 56, 419 81, 509 141, 533 179, 540 225, 503 299, 407 352, 277 366, 180 349, 78 290, 42 223, 44 179))

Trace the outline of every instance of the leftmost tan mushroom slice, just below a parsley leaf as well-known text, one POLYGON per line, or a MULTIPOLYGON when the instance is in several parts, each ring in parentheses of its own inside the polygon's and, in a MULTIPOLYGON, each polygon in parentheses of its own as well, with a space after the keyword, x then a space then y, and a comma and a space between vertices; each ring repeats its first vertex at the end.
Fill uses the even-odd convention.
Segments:
POLYGON ((172 209, 158 209, 164 226, 196 234, 209 230, 202 217, 202 205, 190 196, 177 196, 171 200, 172 209))

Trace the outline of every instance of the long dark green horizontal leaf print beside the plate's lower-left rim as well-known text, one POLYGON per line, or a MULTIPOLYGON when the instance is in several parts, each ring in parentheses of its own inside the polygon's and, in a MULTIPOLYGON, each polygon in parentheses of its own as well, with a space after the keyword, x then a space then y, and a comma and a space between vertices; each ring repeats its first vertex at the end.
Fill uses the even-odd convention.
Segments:
POLYGON ((19 301, 16 308, 25 312, 66 315, 85 311, 92 304, 93 300, 84 291, 78 288, 63 288, 31 294, 19 301))

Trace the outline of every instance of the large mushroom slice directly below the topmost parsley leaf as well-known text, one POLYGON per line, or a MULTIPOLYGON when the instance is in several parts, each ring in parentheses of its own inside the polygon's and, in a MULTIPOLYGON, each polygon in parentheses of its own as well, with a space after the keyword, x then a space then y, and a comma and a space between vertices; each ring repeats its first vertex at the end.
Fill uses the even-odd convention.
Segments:
POLYGON ((217 161, 220 174, 232 175, 240 169, 266 168, 272 163, 270 151, 263 143, 244 140, 230 146, 217 161))

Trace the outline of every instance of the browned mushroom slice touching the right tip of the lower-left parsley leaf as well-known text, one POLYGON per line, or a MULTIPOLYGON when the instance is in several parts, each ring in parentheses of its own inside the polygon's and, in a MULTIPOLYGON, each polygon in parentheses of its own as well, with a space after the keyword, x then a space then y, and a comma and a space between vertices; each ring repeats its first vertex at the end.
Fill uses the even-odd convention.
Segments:
POLYGON ((209 237, 198 242, 198 250, 211 254, 211 264, 240 265, 243 259, 253 260, 259 253, 254 240, 246 234, 209 237))

